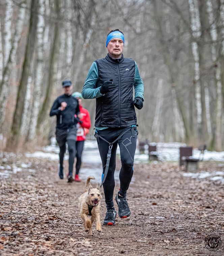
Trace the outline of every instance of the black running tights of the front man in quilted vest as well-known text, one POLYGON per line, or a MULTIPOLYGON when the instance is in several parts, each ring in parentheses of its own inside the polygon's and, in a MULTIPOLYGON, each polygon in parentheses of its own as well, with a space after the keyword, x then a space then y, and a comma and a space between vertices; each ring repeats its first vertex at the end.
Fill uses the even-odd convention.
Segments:
MULTIPOLYGON (((129 188, 133 176, 133 165, 134 165, 134 155, 136 150, 136 140, 137 140, 137 131, 135 130, 134 137, 132 136, 131 127, 125 128, 107 128, 105 130, 97 130, 100 136, 105 138, 108 142, 113 142, 124 130, 127 130, 125 134, 118 139, 113 144, 110 158, 110 165, 107 173, 106 180, 103 184, 105 202, 107 209, 113 208, 113 193, 115 187, 114 181, 114 171, 116 168, 116 149, 117 145, 120 148, 120 158, 121 158, 121 169, 119 174, 120 179, 120 191, 121 196, 126 196, 126 192, 129 188)), ((102 164, 103 164, 103 173, 105 172, 106 162, 107 162, 107 153, 109 149, 109 144, 99 137, 97 141, 102 164)))

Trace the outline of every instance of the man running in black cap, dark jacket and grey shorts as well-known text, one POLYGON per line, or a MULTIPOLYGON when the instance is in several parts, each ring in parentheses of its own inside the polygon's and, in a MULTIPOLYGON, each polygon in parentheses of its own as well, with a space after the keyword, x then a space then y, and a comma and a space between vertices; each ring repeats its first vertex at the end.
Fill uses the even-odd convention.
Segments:
POLYGON ((76 153, 76 124, 77 118, 79 114, 79 103, 76 98, 71 95, 72 92, 72 82, 69 80, 63 81, 62 86, 64 89, 64 94, 59 96, 55 101, 51 108, 50 116, 57 116, 57 126, 56 126, 56 140, 60 147, 60 166, 58 170, 58 176, 60 179, 64 178, 63 172, 63 159, 65 153, 65 144, 67 142, 68 145, 68 153, 69 153, 69 169, 68 169, 68 182, 73 182, 73 164, 76 153))

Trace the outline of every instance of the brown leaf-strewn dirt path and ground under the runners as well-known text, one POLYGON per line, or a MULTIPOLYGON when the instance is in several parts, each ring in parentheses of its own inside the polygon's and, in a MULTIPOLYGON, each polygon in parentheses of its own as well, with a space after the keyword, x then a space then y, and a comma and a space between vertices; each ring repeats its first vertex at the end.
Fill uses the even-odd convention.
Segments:
MULTIPOLYGON (((101 233, 94 225, 87 237, 78 210, 84 182, 59 180, 57 161, 22 154, 0 161, 31 161, 35 170, 0 177, 0 255, 224 255, 224 184, 183 177, 178 163, 135 164, 131 216, 101 233), (222 239, 216 252, 205 247, 210 234, 222 239)), ((223 165, 203 162, 200 170, 223 165)), ((104 197, 101 212, 103 222, 104 197)))

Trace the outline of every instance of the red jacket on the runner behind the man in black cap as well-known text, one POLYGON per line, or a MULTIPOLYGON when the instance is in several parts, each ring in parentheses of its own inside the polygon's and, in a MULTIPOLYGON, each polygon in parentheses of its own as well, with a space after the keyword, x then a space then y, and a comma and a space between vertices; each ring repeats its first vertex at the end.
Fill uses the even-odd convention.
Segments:
POLYGON ((86 134, 89 133, 89 128, 91 126, 91 120, 89 116, 89 111, 79 105, 80 113, 83 114, 83 117, 80 118, 82 124, 77 124, 77 141, 82 141, 86 139, 86 134))

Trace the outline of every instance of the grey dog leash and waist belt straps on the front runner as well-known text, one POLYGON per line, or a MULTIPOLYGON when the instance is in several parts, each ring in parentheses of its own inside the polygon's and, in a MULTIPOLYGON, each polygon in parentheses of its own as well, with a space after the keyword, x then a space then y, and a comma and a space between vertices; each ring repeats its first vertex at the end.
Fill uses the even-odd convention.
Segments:
MULTIPOLYGON (((136 125, 132 125, 132 126, 131 126, 132 137, 135 137, 135 135, 136 135, 135 130, 136 130, 136 129, 137 129, 136 125)), ((105 142, 107 142, 107 143, 109 144, 109 150, 108 150, 108 153, 107 153, 106 168, 105 168, 104 176, 103 176, 102 183, 101 183, 100 187, 102 187, 102 185, 103 185, 103 183, 104 183, 104 181, 106 180, 106 177, 107 177, 107 173, 108 173, 108 169, 109 169, 109 164, 110 164, 110 158, 111 158, 111 150, 112 150, 113 144, 114 144, 119 138, 121 138, 126 132, 127 132, 127 130, 125 130, 124 132, 122 132, 113 142, 110 143, 110 142, 108 142, 105 138, 103 138, 102 136, 100 136, 97 131, 95 131, 94 136, 95 136, 96 139, 98 140, 99 144, 100 144, 99 138, 103 139, 105 142)), ((137 132, 137 135, 138 135, 138 132, 137 132)))

